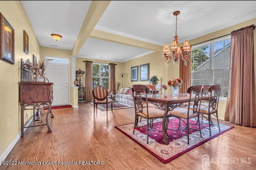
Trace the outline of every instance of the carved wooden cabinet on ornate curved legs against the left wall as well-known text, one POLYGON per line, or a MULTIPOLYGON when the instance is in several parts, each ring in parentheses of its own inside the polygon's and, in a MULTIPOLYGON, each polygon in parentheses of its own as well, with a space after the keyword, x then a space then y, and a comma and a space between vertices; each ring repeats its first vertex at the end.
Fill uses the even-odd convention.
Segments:
POLYGON ((44 76, 44 63, 41 65, 30 63, 29 59, 24 63, 21 59, 20 66, 20 105, 21 105, 21 129, 20 137, 24 135, 24 128, 44 126, 47 132, 52 132, 49 121, 52 114, 53 83, 44 76), (39 65, 39 66, 38 66, 39 65), (24 111, 33 110, 32 117, 24 123, 24 111), (49 117, 49 115, 51 115, 49 117))

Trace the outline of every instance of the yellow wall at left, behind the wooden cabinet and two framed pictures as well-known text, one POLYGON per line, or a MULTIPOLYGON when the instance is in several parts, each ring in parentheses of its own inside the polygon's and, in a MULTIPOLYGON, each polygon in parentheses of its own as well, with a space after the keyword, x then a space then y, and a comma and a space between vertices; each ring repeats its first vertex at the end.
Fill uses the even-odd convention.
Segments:
MULTIPOLYGON (((20 82, 20 59, 30 59, 32 55, 40 57, 40 44, 34 30, 28 20, 26 12, 20 1, 0 1, 0 12, 14 28, 15 36, 15 63, 11 65, 0 60, 0 155, 2 155, 20 129, 20 103, 19 103, 19 82, 20 82), (29 38, 29 54, 23 52, 23 30, 29 38), (7 119, 10 125, 7 126, 7 119)), ((29 114, 29 113, 28 113, 29 114)), ((25 114, 25 118, 29 115, 25 114)))

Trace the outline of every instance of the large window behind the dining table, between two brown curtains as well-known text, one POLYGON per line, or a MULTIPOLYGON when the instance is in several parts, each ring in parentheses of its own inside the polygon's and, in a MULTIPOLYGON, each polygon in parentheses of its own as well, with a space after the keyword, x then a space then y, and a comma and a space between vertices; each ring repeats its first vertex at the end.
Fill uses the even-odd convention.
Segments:
POLYGON ((220 97, 228 97, 230 45, 228 36, 192 47, 192 85, 220 84, 220 97))

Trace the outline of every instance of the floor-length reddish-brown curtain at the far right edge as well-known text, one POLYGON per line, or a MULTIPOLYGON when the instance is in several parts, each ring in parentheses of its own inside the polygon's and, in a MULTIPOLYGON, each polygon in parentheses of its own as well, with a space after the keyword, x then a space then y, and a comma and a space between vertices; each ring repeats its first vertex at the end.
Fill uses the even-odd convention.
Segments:
POLYGON ((256 127, 254 25, 231 32, 230 79, 225 121, 256 127))

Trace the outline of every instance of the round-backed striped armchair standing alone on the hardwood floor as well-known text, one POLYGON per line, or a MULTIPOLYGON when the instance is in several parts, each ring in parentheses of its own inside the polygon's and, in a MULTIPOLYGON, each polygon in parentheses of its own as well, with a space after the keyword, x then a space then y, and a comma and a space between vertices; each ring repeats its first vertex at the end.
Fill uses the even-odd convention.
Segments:
POLYGON ((111 111, 113 110, 112 99, 108 98, 108 89, 103 85, 97 85, 92 89, 93 96, 93 113, 98 109, 98 104, 105 104, 108 114, 108 103, 111 103, 111 111))

